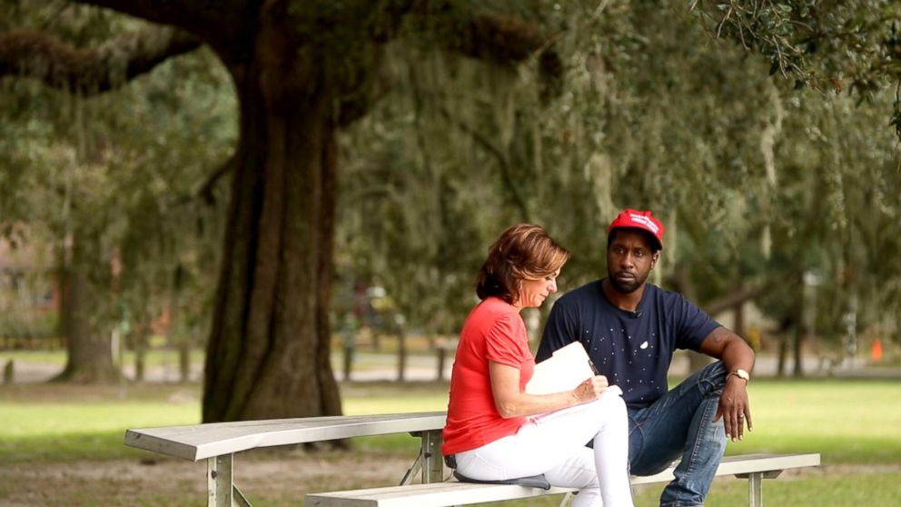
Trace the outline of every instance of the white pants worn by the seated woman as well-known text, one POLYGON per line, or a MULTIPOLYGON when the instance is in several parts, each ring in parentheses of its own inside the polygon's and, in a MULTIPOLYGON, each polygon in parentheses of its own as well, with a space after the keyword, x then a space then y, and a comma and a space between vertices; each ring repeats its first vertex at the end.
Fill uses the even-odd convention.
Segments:
POLYGON ((456 454, 457 470, 480 481, 543 473, 579 488, 573 507, 631 507, 629 419, 619 389, 598 400, 530 418, 516 434, 456 454), (585 444, 594 440, 594 449, 585 444))

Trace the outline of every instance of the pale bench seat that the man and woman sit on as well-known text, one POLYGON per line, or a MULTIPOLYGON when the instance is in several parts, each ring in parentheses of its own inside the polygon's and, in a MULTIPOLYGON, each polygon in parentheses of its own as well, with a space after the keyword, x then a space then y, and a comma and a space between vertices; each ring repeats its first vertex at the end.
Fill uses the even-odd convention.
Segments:
MULTIPOLYGON (((820 455, 811 454, 744 454, 727 456, 719 463, 717 475, 762 473, 792 468, 819 466, 820 455)), ((632 484, 669 482, 675 467, 647 477, 632 477, 632 484)), ((505 484, 471 482, 436 482, 390 486, 345 492, 321 492, 306 495, 303 504, 315 507, 444 507, 480 502, 516 500, 549 494, 575 492, 571 488, 548 491, 505 484)))

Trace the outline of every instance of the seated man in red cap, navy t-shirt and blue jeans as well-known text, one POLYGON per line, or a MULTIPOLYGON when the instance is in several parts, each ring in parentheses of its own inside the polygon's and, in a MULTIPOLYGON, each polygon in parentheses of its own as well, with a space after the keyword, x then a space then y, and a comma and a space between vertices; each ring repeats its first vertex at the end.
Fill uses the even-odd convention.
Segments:
POLYGON ((648 283, 663 224, 627 209, 608 228, 607 278, 563 295, 551 309, 537 360, 579 341, 629 408, 629 468, 652 475, 681 458, 660 495, 667 507, 703 505, 729 438, 752 429, 746 387, 754 352, 678 293, 648 283), (719 361, 668 391, 676 349, 719 361))

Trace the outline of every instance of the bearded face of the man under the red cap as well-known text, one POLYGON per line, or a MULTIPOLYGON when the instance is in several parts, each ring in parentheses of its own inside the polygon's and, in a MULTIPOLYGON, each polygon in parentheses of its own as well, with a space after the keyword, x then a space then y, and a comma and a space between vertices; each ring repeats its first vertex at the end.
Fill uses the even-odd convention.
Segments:
POLYGON ((651 253, 650 244, 638 231, 620 229, 607 246, 607 274, 618 293, 634 293, 648 280, 659 252, 651 253))

